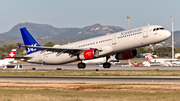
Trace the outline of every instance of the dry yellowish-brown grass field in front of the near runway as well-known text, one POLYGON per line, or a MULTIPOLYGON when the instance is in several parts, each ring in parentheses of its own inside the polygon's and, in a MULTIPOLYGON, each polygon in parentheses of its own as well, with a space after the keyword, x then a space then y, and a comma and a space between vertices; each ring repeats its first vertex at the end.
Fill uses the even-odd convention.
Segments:
POLYGON ((168 89, 172 85, 123 84, 84 84, 66 87, 1 86, 0 99, 1 101, 179 101, 180 85, 173 86, 178 89, 168 89))

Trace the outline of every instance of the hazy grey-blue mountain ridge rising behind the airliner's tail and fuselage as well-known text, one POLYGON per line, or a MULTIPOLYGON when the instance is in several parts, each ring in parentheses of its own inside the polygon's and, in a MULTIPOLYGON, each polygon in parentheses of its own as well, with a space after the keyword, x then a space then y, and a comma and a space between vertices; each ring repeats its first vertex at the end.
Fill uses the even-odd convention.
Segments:
POLYGON ((40 44, 45 44, 49 41, 55 44, 65 44, 68 41, 74 42, 86 38, 92 38, 124 30, 121 27, 104 26, 98 23, 83 28, 56 28, 48 24, 36 24, 25 22, 15 25, 8 32, 1 33, 0 45, 14 44, 18 42, 22 43, 21 34, 19 30, 22 27, 26 27, 40 44))

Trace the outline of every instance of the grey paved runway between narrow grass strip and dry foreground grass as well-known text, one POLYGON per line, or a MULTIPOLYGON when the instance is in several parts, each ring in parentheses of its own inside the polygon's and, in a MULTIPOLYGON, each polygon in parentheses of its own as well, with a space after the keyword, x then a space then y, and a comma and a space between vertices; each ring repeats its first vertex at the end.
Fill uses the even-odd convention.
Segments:
POLYGON ((90 84, 180 84, 180 77, 46 77, 0 76, 0 82, 90 84))

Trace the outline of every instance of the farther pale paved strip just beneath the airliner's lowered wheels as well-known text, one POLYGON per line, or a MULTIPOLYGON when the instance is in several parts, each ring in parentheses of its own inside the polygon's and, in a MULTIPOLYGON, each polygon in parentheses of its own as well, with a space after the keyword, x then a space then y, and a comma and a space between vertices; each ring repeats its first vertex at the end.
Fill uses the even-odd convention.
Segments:
MULTIPOLYGON (((36 68, 36 70, 56 70, 57 68, 61 68, 62 70, 172 70, 172 71, 180 71, 180 67, 161 67, 161 66, 151 66, 151 67, 121 67, 121 65, 112 65, 111 68, 103 68, 99 65, 95 64, 87 64, 85 69, 78 69, 77 64, 64 64, 64 65, 40 65, 40 64, 24 64, 23 70, 32 70, 32 68, 36 68)), ((3 67, 0 67, 3 69, 3 67)))

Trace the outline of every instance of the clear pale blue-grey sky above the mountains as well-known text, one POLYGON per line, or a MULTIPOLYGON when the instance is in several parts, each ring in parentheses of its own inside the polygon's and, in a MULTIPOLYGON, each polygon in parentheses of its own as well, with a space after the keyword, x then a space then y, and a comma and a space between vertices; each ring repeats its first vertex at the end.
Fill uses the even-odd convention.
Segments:
POLYGON ((1 0, 0 33, 18 23, 82 28, 95 23, 130 28, 161 25, 180 30, 180 0, 1 0))

